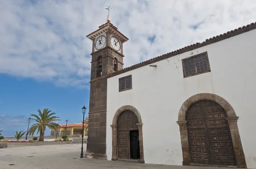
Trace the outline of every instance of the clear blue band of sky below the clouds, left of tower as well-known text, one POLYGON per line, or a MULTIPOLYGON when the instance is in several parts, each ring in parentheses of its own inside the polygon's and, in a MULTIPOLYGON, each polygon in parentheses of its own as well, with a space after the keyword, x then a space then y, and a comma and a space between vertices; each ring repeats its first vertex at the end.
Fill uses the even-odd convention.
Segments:
MULTIPOLYGON (((80 123, 81 108, 88 107, 89 90, 76 87, 56 87, 49 82, 0 75, 0 128, 2 135, 12 136, 16 130, 27 130, 30 113, 49 108, 61 121, 59 124, 80 123)), ((88 113, 88 109, 87 109, 88 113)), ((85 115, 87 116, 87 114, 85 115)), ((31 121, 30 124, 34 122, 31 121)), ((46 134, 49 135, 49 129, 46 134)))

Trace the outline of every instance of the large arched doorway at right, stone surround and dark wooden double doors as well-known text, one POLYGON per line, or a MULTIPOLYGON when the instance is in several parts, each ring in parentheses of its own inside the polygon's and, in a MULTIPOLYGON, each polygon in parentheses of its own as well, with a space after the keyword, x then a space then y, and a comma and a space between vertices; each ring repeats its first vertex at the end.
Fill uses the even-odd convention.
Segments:
MULTIPOLYGON (((211 94, 211 93, 200 93, 187 99, 183 103, 183 105, 180 107, 178 121, 177 121, 177 123, 180 125, 180 138, 181 138, 181 146, 182 146, 182 153, 183 153, 183 165, 191 165, 192 163, 195 163, 195 161, 200 164, 200 161, 204 161, 204 162, 207 161, 206 158, 210 158, 209 159, 210 161, 208 160, 209 161, 208 164, 210 165, 215 165, 215 164, 223 165, 223 163, 218 162, 218 159, 222 158, 222 156, 216 158, 214 152, 211 152, 212 151, 211 148, 208 148, 208 149, 201 148, 201 150, 198 149, 198 152, 201 151, 202 153, 202 154, 199 154, 199 158, 201 159, 199 159, 198 157, 195 158, 196 152, 193 152, 193 151, 195 150, 196 147, 193 147, 193 146, 197 146, 196 144, 201 144, 202 146, 204 146, 204 141, 202 141, 202 139, 205 138, 206 140, 205 144, 207 143, 208 145, 211 144, 210 146, 212 146, 213 150, 214 150, 214 146, 218 146, 219 149, 216 148, 216 152, 222 151, 225 153, 224 150, 221 150, 220 146, 223 146, 223 143, 226 144, 226 142, 225 141, 221 142, 218 140, 223 138, 223 136, 221 136, 221 133, 224 133, 224 137, 225 137, 225 134, 226 136, 231 137, 231 141, 227 141, 227 143, 228 143, 228 146, 232 143, 233 147, 226 148, 225 150, 227 152, 228 151, 230 152, 230 150, 227 150, 227 149, 233 149, 232 154, 235 158, 235 160, 233 161, 236 161, 234 165, 240 168, 247 168, 246 161, 244 158, 244 152, 241 144, 241 139, 239 135, 239 130, 237 126, 237 120, 238 120, 238 117, 236 116, 236 113, 233 110, 232 106, 225 99, 223 99, 218 95, 211 94), (220 120, 219 122, 216 122, 210 119, 211 117, 207 117, 207 113, 205 113, 207 111, 213 112, 213 109, 215 109, 214 111, 218 109, 218 112, 212 113, 212 114, 209 113, 209 114, 213 115, 212 118, 214 119, 215 119, 215 114, 216 114, 216 119, 221 116, 221 118, 219 118, 220 120), (202 111, 204 111, 204 113, 202 113, 202 111), (196 114, 198 114, 199 117, 196 114), (204 114, 204 115, 200 116, 200 114, 204 114), (204 119, 205 121, 200 121, 199 118, 201 118, 202 120, 204 119), (216 123, 220 123, 221 125, 223 124, 221 130, 218 130, 218 127, 216 128, 216 123), (193 124, 195 124, 194 128, 193 128, 193 124), (211 125, 212 125, 212 128, 209 127, 211 125), (198 128, 197 131, 196 131, 196 128, 198 128), (228 133, 229 131, 230 133, 228 133), (204 132, 208 132, 208 133, 204 133, 204 132), (209 135, 211 135, 212 138, 209 138, 209 135), (217 139, 217 141, 215 141, 215 138, 217 139), (191 141, 191 139, 197 139, 197 140, 201 139, 201 140, 191 141), (214 141, 210 142, 212 141, 212 139, 214 141), (205 152, 205 151, 208 151, 208 152, 205 152), (216 162, 216 159, 217 159, 217 162, 216 162)), ((218 125, 221 126, 220 124, 218 125)), ((223 159, 221 160, 223 161, 223 159)), ((224 163, 224 165, 232 165, 232 164, 224 163)))

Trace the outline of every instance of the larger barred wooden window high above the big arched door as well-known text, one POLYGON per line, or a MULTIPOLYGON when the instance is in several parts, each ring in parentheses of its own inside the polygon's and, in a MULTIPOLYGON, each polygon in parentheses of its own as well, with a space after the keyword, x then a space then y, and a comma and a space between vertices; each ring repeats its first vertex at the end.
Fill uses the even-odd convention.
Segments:
POLYGON ((184 77, 211 71, 207 52, 182 59, 182 66, 184 77))

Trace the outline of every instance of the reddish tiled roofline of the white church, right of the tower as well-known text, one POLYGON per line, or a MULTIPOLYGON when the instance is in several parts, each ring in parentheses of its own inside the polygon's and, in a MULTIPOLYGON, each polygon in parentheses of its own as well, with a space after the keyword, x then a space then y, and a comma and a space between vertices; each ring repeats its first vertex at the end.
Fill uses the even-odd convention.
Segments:
MULTIPOLYGON (((255 22, 255 23, 248 24, 248 25, 243 26, 243 27, 239 27, 239 28, 234 29, 234 30, 232 30, 232 31, 227 31, 227 33, 220 34, 220 35, 217 35, 217 36, 215 36, 215 37, 206 39, 206 40, 205 40, 204 42, 202 42, 202 43, 201 43, 201 42, 197 42, 197 43, 194 43, 193 45, 188 45, 188 46, 185 46, 184 48, 178 49, 178 50, 176 50, 176 51, 172 51, 172 52, 169 52, 169 53, 167 53, 167 54, 163 54, 163 55, 161 55, 161 56, 157 56, 157 57, 154 57, 154 58, 152 58, 152 59, 148 59, 148 60, 146 60, 146 61, 144 61, 144 62, 140 62, 140 63, 138 63, 138 64, 132 65, 132 66, 130 66, 130 67, 128 67, 128 68, 124 68, 124 69, 122 69, 122 70, 118 70, 118 71, 116 71, 116 72, 109 73, 107 76, 112 76, 112 75, 115 75, 115 74, 120 74, 120 73, 127 72, 127 71, 129 71, 129 70, 133 70, 133 69, 135 69, 135 68, 139 68, 139 67, 145 65, 145 63, 147 63, 147 62, 150 62, 150 63, 152 63, 152 62, 157 62, 157 61, 159 61, 158 58, 163 58, 163 57, 165 57, 166 55, 169 55, 169 54, 174 54, 174 55, 180 54, 182 51, 185 51, 185 50, 187 50, 188 48, 191 48, 191 47, 193 47, 193 48, 195 47, 195 48, 196 48, 197 46, 203 45, 203 44, 206 43, 206 42, 209 43, 209 41, 212 41, 213 39, 218 39, 218 38, 220 38, 220 37, 225 37, 225 36, 227 36, 228 34, 233 34, 233 33, 237 32, 237 31, 240 31, 240 30, 242 30, 242 29, 248 28, 248 27, 253 26, 253 25, 256 25, 256 22, 255 22), (175 54, 175 53, 177 53, 177 54, 175 54)), ((236 36, 236 35, 234 35, 234 36, 236 36)))

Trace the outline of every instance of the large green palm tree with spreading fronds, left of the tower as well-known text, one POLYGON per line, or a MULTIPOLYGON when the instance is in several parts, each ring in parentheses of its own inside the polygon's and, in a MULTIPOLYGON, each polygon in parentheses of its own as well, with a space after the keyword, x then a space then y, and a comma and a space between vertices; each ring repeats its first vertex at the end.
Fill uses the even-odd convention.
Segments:
POLYGON ((52 122, 57 120, 60 121, 60 119, 58 119, 59 117, 57 116, 52 116, 52 115, 55 115, 56 113, 51 113, 51 112, 52 110, 44 108, 43 113, 41 112, 40 109, 38 109, 39 115, 31 114, 31 116, 35 117, 35 118, 31 118, 31 120, 35 120, 37 123, 33 124, 30 127, 28 131, 29 135, 32 134, 33 136, 37 130, 37 133, 40 132, 39 141, 44 141, 44 131, 46 130, 46 127, 49 127, 50 129, 55 129, 55 130, 58 127, 60 127, 59 124, 52 122))

